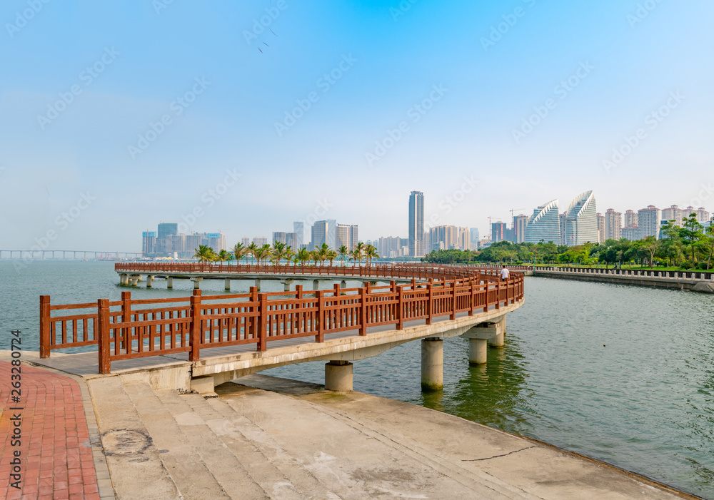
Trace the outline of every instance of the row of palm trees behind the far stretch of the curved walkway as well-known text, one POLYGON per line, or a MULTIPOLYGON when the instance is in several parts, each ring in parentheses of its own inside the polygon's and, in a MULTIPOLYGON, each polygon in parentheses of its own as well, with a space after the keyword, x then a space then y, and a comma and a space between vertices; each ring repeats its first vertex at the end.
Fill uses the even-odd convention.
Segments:
POLYGON ((208 245, 199 245, 195 251, 193 257, 198 259, 198 262, 228 262, 229 265, 232 260, 240 262, 241 259, 247 264, 248 257, 252 257, 258 262, 258 265, 266 264, 268 261, 278 266, 283 262, 286 265, 305 265, 306 262, 314 262, 315 265, 319 262, 320 265, 324 265, 326 260, 332 265, 333 261, 337 260, 344 266, 351 260, 354 267, 354 265, 361 265, 362 260, 367 265, 372 265, 372 259, 379 258, 377 249, 373 245, 365 245, 361 242, 357 243, 353 250, 349 250, 345 245, 333 250, 326 243, 315 250, 306 248, 293 250, 286 243, 276 241, 272 246, 267 244, 258 246, 255 242, 247 246, 243 243, 236 243, 230 252, 228 250, 216 252, 208 245))

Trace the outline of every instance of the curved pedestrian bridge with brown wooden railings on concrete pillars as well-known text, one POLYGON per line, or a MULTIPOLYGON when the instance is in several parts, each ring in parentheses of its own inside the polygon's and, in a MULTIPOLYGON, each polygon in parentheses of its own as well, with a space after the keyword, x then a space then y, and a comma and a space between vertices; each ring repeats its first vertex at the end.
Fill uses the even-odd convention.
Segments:
MULTIPOLYGON (((506 314, 523 305, 523 274, 439 265, 266 266, 121 263, 122 285, 141 276, 194 281, 188 297, 98 299, 56 305, 40 297, 37 363, 86 378, 121 374, 156 389, 213 392, 223 382, 264 369, 326 361, 326 389, 352 389, 352 362, 422 340, 421 382, 443 387, 443 339, 469 339, 468 359, 486 362, 503 347, 506 314), (125 278, 126 277, 126 278, 125 278), (203 279, 281 280, 283 292, 202 295, 203 279), (314 290, 292 286, 313 280, 314 290), (319 290, 324 280, 334 281, 319 290), (347 288, 346 280, 363 286, 347 288), (51 356, 96 346, 91 352, 51 356), (74 349, 76 350, 76 349, 74 349)), ((226 288, 229 288, 229 283, 226 288)))

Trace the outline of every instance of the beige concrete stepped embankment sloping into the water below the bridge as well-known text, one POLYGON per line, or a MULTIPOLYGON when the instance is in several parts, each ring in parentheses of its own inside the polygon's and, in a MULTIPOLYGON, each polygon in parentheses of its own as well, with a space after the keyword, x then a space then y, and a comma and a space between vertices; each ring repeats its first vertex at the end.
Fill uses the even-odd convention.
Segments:
POLYGON ((218 397, 87 382, 118 498, 691 498, 423 407, 251 375, 218 397))

